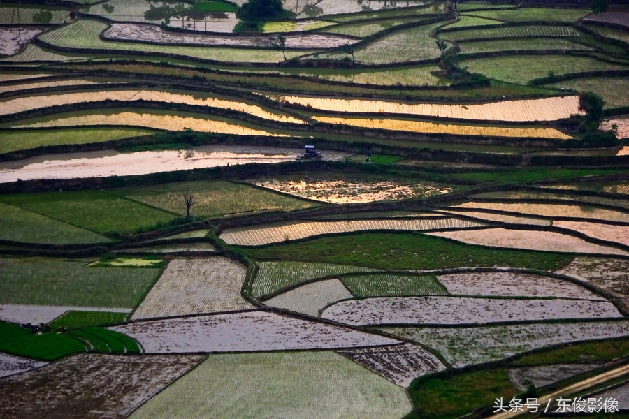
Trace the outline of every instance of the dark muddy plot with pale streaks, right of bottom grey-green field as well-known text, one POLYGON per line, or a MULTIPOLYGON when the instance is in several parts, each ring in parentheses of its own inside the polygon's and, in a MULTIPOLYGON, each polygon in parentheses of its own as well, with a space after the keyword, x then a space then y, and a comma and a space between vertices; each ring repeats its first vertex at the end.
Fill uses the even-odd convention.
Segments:
POLYGON ((401 387, 408 387, 414 378, 445 369, 439 358, 414 344, 337 352, 401 387))

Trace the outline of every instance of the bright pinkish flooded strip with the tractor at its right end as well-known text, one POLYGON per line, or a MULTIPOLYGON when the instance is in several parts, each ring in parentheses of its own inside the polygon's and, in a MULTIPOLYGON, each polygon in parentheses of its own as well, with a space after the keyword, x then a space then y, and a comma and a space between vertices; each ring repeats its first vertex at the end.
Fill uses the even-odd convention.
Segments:
MULTIPOLYGON (((146 175, 196 168, 212 168, 245 163, 280 163, 292 161, 301 149, 210 145, 187 150, 119 153, 84 152, 57 154, 54 160, 45 156, 0 163, 0 183, 17 179, 68 179, 146 175)), ((339 160, 347 153, 325 152, 328 160, 339 160)))

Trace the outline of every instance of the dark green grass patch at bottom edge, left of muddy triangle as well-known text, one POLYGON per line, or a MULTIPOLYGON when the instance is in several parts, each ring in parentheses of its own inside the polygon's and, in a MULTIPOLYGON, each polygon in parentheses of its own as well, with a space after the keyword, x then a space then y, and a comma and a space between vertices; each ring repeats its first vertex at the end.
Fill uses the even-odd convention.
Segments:
POLYGON ((413 404, 422 418, 458 418, 473 409, 489 405, 496 398, 511 399, 519 390, 509 381, 506 369, 453 374, 448 378, 414 381, 409 387, 413 404))

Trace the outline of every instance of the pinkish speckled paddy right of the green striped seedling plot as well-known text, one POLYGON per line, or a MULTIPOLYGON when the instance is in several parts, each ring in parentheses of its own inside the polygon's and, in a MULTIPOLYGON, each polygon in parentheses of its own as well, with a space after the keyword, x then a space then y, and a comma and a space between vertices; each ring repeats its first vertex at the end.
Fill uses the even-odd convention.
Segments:
POLYGON ((557 297, 605 300, 583 286, 563 279, 521 272, 465 272, 439 275, 448 293, 496 297, 557 297))

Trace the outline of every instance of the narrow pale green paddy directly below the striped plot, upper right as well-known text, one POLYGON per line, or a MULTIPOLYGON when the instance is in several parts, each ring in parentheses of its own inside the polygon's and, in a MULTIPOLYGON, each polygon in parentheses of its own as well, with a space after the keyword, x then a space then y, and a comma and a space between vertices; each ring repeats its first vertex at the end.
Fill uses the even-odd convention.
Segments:
POLYGON ((459 43, 461 54, 476 52, 516 51, 516 50, 593 50, 593 47, 574 43, 561 38, 523 38, 497 41, 474 41, 459 43))

